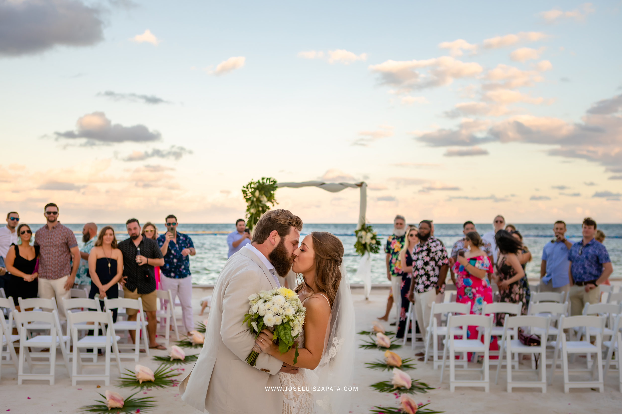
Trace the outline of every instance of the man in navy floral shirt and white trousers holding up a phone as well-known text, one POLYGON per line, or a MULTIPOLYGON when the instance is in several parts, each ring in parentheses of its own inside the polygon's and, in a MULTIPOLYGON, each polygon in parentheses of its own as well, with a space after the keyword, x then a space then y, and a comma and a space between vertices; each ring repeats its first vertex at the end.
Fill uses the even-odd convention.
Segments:
POLYGON ((170 290, 173 296, 179 296, 182 304, 182 320, 185 331, 194 330, 192 321, 192 277, 190 277, 190 257, 197 254, 192 239, 177 232, 177 217, 170 214, 166 217, 166 233, 157 238, 164 266, 160 267, 160 289, 170 290), (164 276, 164 277, 162 277, 164 276))

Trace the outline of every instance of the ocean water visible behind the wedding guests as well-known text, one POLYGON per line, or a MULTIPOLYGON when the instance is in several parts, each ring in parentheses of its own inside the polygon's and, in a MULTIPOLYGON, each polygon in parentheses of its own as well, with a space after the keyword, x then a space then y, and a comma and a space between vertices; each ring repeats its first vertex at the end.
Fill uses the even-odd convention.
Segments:
MULTIPOLYGON (((106 223, 98 224, 102 228, 106 223)), ((124 224, 110 224, 117 233, 117 240, 124 240, 128 237, 124 224)), ((35 230, 42 225, 32 225, 35 230)), ((383 243, 383 249, 379 254, 372 254, 371 258, 371 280, 373 283, 389 284, 386 278, 386 265, 384 262, 384 245, 387 236, 392 233, 392 224, 372 224, 374 230, 378 232, 379 240, 383 243)), ((81 233, 82 224, 67 224, 76 233, 81 233)), ((453 243, 463 237, 462 224, 437 224, 435 223, 435 236, 439 238, 450 251, 453 243)), ((480 234, 493 230, 491 224, 477 224, 480 234)), ((537 278, 540 274, 540 263, 542 258, 542 248, 553 238, 552 225, 549 224, 517 224, 516 228, 523 235, 523 241, 532 253, 533 260, 527 264, 527 276, 537 278)), ((352 283, 361 283, 354 275, 360 260, 360 256, 354 250, 356 224, 307 224, 302 229, 302 235, 310 232, 330 232, 338 236, 345 248, 344 260, 350 274, 352 283)), ((611 262, 613 263, 613 275, 611 277, 622 277, 622 225, 603 224, 598 225, 607 235, 605 246, 609 251, 611 262)), ((193 284, 214 284, 218 274, 227 260, 228 247, 226 244, 226 233, 234 230, 233 224, 180 224, 179 232, 187 233, 191 236, 197 250, 197 255, 190 258, 190 271, 192 272, 193 284)), ((158 225, 158 232, 165 232, 164 225, 158 225)), ((581 239, 581 225, 568 225, 566 236, 571 241, 581 239)), ((78 244, 81 246, 81 235, 77 235, 78 244)))

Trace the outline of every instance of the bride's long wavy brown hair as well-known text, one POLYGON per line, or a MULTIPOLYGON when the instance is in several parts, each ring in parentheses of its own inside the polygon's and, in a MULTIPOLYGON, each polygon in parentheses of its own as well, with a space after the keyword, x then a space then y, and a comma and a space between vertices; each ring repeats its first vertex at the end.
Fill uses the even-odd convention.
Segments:
POLYGON ((337 236, 328 232, 311 232, 313 240, 313 262, 315 263, 315 285, 320 292, 315 292, 303 281, 296 287, 299 292, 303 287, 313 293, 323 293, 328 297, 330 307, 333 307, 337 290, 341 282, 341 261, 343 261, 343 243, 337 236))

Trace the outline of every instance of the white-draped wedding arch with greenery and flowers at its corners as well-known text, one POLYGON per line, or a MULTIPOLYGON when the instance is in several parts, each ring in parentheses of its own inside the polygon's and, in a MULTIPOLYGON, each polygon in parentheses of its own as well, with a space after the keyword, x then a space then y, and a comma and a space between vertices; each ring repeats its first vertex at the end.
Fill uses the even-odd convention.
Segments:
POLYGON ((304 181, 304 182, 277 182, 274 178, 263 177, 258 181, 250 181, 242 188, 244 200, 246 200, 246 218, 249 228, 253 228, 264 212, 270 209, 268 204, 277 204, 274 192, 277 188, 291 187, 318 187, 325 191, 340 192, 346 188, 358 188, 361 192, 359 204, 358 225, 355 230, 356 253, 361 255, 361 261, 356 269, 356 277, 363 281, 365 299, 369 299, 371 292, 371 256, 370 253, 378 253, 380 241, 376 237, 371 225, 366 223, 367 212, 367 184, 361 182, 325 182, 325 181, 304 181))

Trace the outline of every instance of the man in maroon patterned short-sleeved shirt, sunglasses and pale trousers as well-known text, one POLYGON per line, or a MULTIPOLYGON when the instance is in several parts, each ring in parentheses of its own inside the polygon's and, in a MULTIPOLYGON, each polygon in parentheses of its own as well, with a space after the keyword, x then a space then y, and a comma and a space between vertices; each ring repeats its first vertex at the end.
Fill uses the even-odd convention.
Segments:
POLYGON ((80 264, 80 250, 73 232, 58 222, 58 205, 46 204, 44 217, 45 226, 35 233, 35 246, 40 249, 39 297, 55 297, 58 318, 65 320, 62 298, 71 298, 70 289, 80 264))

